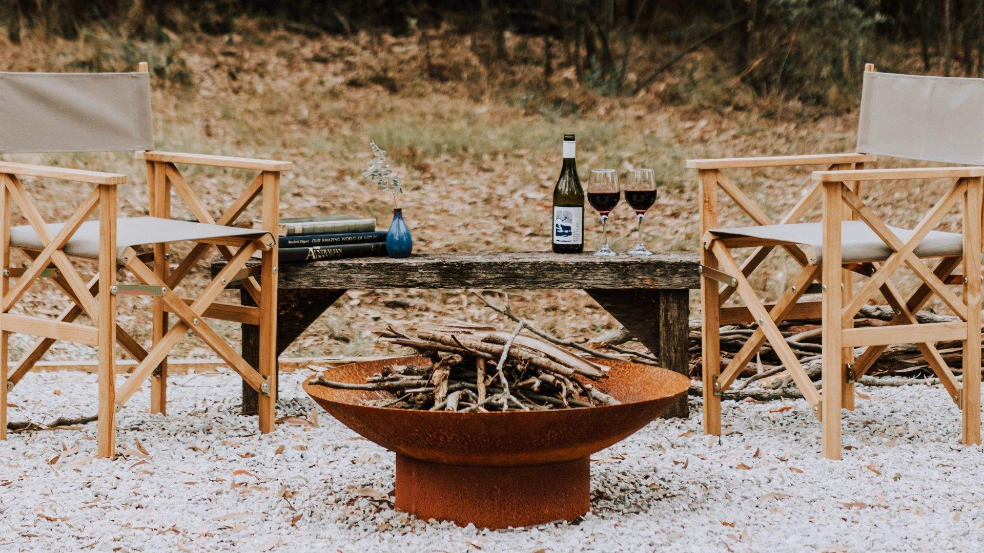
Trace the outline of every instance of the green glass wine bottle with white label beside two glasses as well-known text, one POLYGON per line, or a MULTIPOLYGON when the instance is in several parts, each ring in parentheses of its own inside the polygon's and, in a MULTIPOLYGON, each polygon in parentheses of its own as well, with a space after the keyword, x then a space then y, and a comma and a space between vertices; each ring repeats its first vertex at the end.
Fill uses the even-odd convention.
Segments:
POLYGON ((578 178, 574 135, 564 135, 564 164, 554 187, 553 251, 584 252, 584 189, 578 178))

